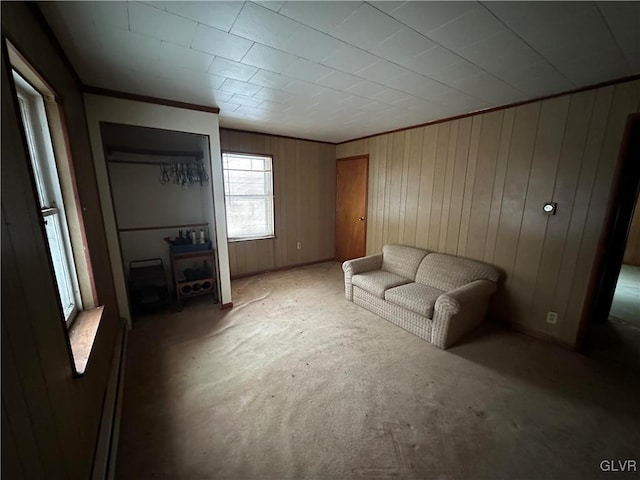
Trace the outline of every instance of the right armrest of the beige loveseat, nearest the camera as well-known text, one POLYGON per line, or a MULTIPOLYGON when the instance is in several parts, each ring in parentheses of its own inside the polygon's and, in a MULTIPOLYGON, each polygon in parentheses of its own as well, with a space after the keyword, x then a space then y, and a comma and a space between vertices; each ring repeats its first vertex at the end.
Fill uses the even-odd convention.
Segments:
POLYGON ((450 347, 482 323, 489 298, 497 288, 492 281, 475 280, 440 295, 433 309, 431 343, 440 348, 450 347))

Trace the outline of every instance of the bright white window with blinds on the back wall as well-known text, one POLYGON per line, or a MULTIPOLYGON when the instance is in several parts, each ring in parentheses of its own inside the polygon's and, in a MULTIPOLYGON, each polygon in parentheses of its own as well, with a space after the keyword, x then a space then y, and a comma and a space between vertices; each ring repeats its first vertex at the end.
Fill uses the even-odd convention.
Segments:
POLYGON ((272 158, 223 153, 222 168, 229 240, 273 237, 272 158))

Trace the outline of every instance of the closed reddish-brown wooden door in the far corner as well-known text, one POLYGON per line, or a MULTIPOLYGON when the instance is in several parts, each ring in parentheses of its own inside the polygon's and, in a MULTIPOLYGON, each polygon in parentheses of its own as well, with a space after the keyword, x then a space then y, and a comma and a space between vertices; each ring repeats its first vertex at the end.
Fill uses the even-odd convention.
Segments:
POLYGON ((363 257, 367 245, 369 156, 336 161, 336 260, 363 257))

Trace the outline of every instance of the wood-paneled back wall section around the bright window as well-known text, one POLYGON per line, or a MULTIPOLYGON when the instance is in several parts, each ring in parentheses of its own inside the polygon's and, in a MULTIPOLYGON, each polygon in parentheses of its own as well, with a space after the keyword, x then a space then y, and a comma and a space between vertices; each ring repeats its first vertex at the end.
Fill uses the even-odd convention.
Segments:
POLYGON ((224 128, 220 145, 273 156, 275 238, 229 242, 232 276, 334 257, 335 145, 224 128))

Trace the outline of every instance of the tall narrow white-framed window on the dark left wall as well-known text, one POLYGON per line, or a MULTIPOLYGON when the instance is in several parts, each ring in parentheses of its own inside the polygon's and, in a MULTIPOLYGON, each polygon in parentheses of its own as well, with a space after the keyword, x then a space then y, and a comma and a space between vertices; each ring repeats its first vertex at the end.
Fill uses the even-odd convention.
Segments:
POLYGON ((67 324, 82 309, 62 192, 42 95, 13 72, 40 211, 67 324))

